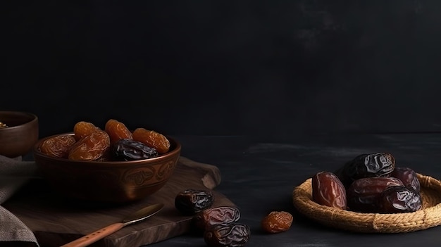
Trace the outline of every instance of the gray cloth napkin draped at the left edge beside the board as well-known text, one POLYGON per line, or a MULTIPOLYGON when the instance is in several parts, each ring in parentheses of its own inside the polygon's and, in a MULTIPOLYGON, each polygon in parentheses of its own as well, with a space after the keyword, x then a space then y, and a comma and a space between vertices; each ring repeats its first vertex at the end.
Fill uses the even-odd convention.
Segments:
POLYGON ((33 161, 0 155, 0 242, 26 241, 34 242, 39 246, 32 231, 18 217, 1 206, 1 203, 8 200, 15 191, 35 176, 36 169, 33 161))

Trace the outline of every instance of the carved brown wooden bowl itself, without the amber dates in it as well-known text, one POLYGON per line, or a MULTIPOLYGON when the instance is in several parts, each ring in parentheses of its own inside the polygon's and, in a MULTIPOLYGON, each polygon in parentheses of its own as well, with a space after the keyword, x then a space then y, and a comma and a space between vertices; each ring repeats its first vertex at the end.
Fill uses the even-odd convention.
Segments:
POLYGON ((46 156, 39 150, 42 142, 51 137, 40 139, 33 148, 39 173, 58 194, 82 202, 128 203, 154 194, 173 174, 181 151, 178 141, 167 137, 170 151, 155 158, 68 160, 46 156))

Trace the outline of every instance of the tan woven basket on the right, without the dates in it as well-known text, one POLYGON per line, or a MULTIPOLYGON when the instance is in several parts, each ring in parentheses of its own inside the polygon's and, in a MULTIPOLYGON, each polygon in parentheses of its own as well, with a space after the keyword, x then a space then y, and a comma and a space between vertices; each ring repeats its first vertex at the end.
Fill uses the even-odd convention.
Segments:
POLYGON ((312 201, 312 179, 294 188, 292 200, 300 213, 328 227, 351 232, 400 233, 436 227, 441 224, 441 182, 417 173, 423 208, 413 213, 356 213, 331 208, 312 201))

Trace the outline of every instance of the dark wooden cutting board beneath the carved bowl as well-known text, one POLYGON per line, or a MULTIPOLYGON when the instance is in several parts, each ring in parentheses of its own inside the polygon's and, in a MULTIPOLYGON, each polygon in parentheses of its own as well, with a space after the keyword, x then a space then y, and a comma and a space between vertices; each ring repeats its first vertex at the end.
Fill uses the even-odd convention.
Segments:
POLYGON ((41 247, 51 247, 61 246, 108 224, 120 222, 126 215, 149 204, 164 203, 164 208, 156 215, 130 224, 91 245, 142 246, 192 232, 192 217, 181 215, 174 205, 176 194, 182 190, 209 189, 215 197, 213 206, 234 206, 226 196, 213 190, 220 183, 221 172, 218 167, 180 157, 175 172, 162 189, 142 201, 128 205, 81 205, 68 202, 56 196, 44 179, 36 179, 3 206, 34 232, 41 247))

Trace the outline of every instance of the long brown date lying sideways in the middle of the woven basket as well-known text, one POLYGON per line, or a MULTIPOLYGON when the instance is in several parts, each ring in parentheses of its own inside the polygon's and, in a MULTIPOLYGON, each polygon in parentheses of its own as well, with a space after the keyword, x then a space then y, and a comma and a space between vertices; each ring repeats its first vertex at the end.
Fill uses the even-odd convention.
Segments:
POLYGON ((403 185, 395 177, 365 177, 356 179, 347 189, 349 210, 361 213, 373 213, 380 210, 378 200, 381 193, 390 186, 403 185))

